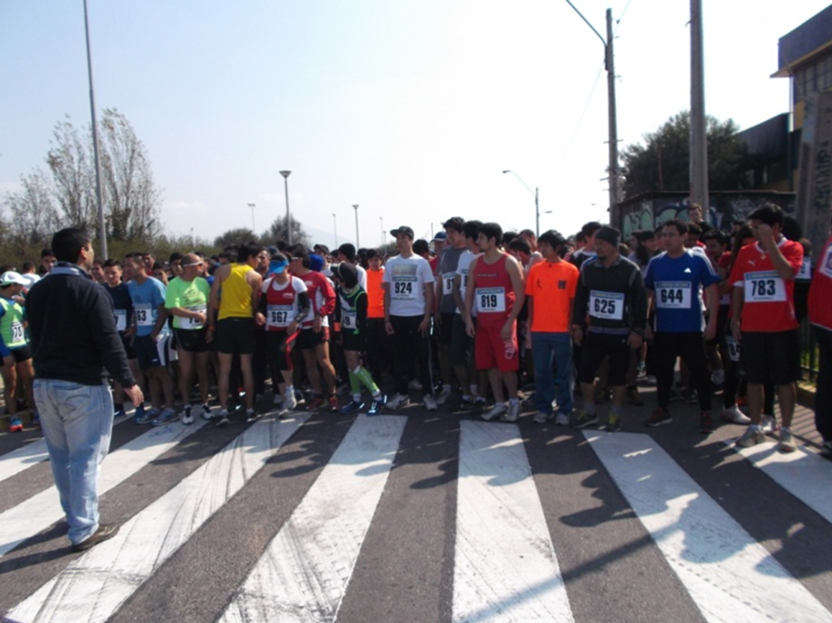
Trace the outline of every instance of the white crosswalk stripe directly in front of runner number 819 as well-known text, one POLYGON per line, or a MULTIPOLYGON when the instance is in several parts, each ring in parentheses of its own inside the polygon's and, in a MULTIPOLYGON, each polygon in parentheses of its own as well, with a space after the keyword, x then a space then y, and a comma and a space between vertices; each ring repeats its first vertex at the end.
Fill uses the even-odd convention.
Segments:
POLYGON ((572 621, 520 431, 462 421, 454 621, 572 621))

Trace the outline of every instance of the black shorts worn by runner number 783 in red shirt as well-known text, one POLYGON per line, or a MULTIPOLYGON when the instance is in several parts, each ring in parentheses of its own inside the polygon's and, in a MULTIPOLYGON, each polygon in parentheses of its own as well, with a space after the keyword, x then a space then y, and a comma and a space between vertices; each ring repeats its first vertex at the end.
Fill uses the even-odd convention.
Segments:
POLYGON ((797 329, 763 333, 743 331, 740 361, 749 383, 788 385, 800 380, 800 340, 797 329))

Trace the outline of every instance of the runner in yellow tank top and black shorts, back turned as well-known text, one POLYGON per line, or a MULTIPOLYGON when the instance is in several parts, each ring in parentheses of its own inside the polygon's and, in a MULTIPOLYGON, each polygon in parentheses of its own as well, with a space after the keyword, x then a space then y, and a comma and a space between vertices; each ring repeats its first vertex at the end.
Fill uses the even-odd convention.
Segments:
MULTIPOLYGON (((220 369, 217 373, 217 389, 220 412, 217 426, 228 424, 228 384, 234 354, 240 356, 245 391, 247 418, 255 415, 255 378, 252 372, 252 355, 255 352, 255 322, 265 324, 265 317, 256 312, 260 301, 263 278, 255 266, 265 248, 255 244, 241 244, 234 264, 217 268, 211 286, 208 342, 216 342, 220 369), (213 321, 213 318, 216 321, 213 321)), ((212 418, 213 419, 213 418, 212 418)))

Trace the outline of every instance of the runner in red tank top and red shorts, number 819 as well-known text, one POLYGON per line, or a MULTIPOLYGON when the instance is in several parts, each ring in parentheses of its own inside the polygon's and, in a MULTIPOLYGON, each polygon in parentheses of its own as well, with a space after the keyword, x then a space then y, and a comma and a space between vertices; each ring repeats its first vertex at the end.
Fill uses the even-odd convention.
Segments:
POLYGON ((504 416, 517 421, 520 401, 517 400, 517 315, 525 300, 523 268, 499 247, 503 229, 497 223, 484 223, 477 234, 483 250, 469 275, 465 291, 465 307, 476 306, 477 322, 467 319, 468 335, 474 338, 477 369, 488 370, 494 392, 494 408, 483 414, 485 421, 504 416), (508 389, 509 404, 504 402, 503 384, 508 389))

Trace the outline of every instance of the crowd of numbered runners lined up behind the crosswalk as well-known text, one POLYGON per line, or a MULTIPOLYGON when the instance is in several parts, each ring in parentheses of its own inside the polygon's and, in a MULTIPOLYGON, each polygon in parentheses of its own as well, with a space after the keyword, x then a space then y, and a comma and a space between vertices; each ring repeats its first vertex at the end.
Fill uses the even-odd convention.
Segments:
MULTIPOLYGON (((255 421, 266 400, 281 414, 374 415, 421 397, 425 410, 485 421, 534 410, 539 424, 619 431, 667 424, 671 403, 684 400, 698 405, 702 433, 723 419, 747 425, 739 446, 770 432, 792 452, 798 326, 808 316, 819 354, 816 426, 832 455, 832 249, 813 266, 779 207, 764 204, 723 232, 692 204, 628 240, 601 223, 568 238, 461 217, 442 226, 431 242, 408 226, 392 230, 398 253, 389 258, 352 244, 278 241, 212 257, 96 260, 90 275, 109 293, 130 372, 149 398, 133 421, 224 426, 255 421), (625 404, 644 405, 645 384, 656 385, 657 404, 642 421, 636 410, 625 417, 625 404)), ((39 266, 0 275, 11 431, 23 430, 25 404, 37 421, 26 292, 55 265, 45 249, 39 266)), ((126 417, 117 380, 112 394, 115 417, 126 417)))

